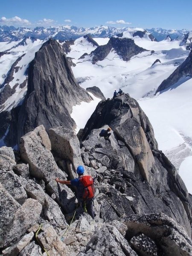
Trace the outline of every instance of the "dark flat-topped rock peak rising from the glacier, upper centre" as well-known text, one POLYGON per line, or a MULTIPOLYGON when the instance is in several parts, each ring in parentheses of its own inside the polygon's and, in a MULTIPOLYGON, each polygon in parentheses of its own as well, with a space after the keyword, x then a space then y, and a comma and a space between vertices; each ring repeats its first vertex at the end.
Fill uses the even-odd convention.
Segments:
POLYGON ((101 45, 90 53, 90 56, 93 55, 93 64, 106 58, 111 49, 114 49, 124 61, 130 60, 131 57, 140 52, 147 51, 142 47, 138 47, 134 40, 130 38, 110 38, 108 44, 101 45))

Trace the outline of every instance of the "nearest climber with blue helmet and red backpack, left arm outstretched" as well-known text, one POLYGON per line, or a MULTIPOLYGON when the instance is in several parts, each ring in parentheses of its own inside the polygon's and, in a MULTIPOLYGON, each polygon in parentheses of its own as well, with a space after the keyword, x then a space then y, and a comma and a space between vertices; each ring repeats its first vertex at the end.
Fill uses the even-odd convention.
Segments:
POLYGON ((87 210, 88 214, 94 219, 96 216, 93 212, 93 198, 94 198, 94 187, 93 187, 93 178, 89 175, 84 176, 84 167, 77 167, 78 178, 73 180, 59 180, 56 178, 55 181, 61 184, 73 185, 77 189, 77 199, 79 204, 84 207, 85 211, 87 210))

